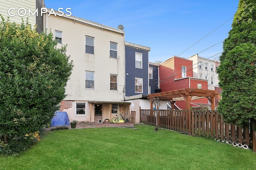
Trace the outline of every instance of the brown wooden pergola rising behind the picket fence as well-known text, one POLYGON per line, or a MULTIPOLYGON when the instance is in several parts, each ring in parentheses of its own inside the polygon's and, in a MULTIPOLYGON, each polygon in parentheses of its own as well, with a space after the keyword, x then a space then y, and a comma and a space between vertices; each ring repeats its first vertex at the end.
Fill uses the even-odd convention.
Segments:
MULTIPOLYGON (((215 97, 218 97, 220 92, 215 90, 204 90, 197 88, 184 88, 180 90, 172 90, 168 92, 160 92, 154 94, 148 94, 148 99, 159 98, 159 100, 170 100, 172 108, 174 108, 175 101, 186 102, 186 109, 190 110, 190 102, 201 98, 207 98, 211 103, 212 110, 215 107, 215 97)), ((153 104, 150 102, 150 109, 153 109, 153 104)))

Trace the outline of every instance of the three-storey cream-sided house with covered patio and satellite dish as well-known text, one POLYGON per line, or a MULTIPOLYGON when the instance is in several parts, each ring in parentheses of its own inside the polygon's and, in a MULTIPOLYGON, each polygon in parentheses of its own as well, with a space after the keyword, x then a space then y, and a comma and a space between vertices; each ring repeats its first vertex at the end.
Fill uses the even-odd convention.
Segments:
POLYGON ((67 45, 66 54, 74 64, 60 106, 70 121, 102 123, 128 110, 125 31, 66 15, 46 15, 44 28, 54 34, 57 48, 67 45))

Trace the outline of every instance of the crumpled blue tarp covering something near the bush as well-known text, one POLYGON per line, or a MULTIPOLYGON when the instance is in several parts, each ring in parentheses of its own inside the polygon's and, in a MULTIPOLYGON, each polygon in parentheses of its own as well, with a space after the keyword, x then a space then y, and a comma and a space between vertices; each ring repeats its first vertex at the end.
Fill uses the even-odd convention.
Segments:
POLYGON ((52 117, 51 126, 60 126, 67 125, 69 126, 68 114, 66 111, 55 111, 54 117, 52 117))

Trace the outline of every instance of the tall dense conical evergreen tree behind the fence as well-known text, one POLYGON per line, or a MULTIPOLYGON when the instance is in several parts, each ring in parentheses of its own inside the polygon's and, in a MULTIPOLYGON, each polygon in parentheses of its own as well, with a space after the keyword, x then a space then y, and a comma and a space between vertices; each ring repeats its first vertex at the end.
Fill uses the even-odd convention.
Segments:
POLYGON ((220 56, 218 111, 237 125, 256 119, 256 1, 240 0, 220 56))

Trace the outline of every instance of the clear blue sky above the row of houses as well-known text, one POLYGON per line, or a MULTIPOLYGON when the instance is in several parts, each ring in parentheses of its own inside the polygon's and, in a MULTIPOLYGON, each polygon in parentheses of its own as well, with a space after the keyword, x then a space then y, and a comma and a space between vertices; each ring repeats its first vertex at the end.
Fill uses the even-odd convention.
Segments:
POLYGON ((117 28, 125 41, 150 47, 149 62, 198 54, 218 60, 239 0, 44 0, 72 16, 117 28))

